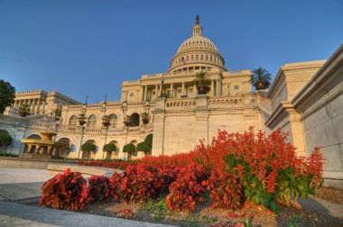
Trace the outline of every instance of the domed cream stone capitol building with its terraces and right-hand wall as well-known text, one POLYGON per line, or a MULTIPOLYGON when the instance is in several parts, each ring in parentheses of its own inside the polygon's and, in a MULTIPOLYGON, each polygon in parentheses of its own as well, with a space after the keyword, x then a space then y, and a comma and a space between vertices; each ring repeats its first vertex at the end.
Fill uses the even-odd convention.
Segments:
MULTIPOLYGON (((55 141, 70 143, 63 156, 85 157, 80 146, 88 141, 97 146, 91 158, 125 159, 123 146, 136 145, 149 133, 153 133, 152 155, 171 155, 192 150, 201 139, 211 141, 218 130, 244 132, 254 126, 272 132, 282 128, 290 132, 288 140, 299 155, 308 156, 314 146, 322 147, 326 182, 343 187, 343 46, 327 61, 285 64, 269 90, 253 92, 251 71, 228 70, 217 47, 202 36, 199 21, 192 31, 166 73, 124 81, 120 101, 79 104, 59 93, 17 93, 12 111, 0 115, 0 132, 14 139, 2 151, 23 153, 22 139, 39 138, 40 132, 48 131, 58 132, 55 141), (200 71, 206 71, 211 80, 208 95, 197 95, 193 86, 200 71), (32 116, 19 117, 15 109, 28 100, 32 116), (61 119, 55 122, 49 114, 58 106, 61 119), (85 127, 78 123, 81 113, 87 116, 85 127), (142 122, 142 113, 151 115, 150 123, 142 122), (112 123, 108 129, 102 126, 105 114, 112 123), (130 127, 123 123, 126 115, 133 116, 130 127), (102 150, 107 143, 118 148, 112 157, 102 150)), ((133 158, 143 156, 138 152, 133 158)))

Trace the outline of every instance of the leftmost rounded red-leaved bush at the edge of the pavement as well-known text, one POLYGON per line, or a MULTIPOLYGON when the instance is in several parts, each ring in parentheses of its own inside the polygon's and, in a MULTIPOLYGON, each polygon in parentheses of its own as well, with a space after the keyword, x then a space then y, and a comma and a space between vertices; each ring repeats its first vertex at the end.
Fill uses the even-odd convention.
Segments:
POLYGON ((79 173, 67 168, 42 186, 40 204, 54 209, 85 210, 87 183, 79 173))

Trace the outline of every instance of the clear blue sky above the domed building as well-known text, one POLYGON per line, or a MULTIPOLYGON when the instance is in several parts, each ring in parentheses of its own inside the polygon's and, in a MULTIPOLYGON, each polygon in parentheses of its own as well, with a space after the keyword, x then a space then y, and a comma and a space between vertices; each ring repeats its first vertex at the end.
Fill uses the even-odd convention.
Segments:
POLYGON ((196 14, 229 70, 328 59, 342 0, 0 0, 0 78, 17 91, 119 100, 124 80, 166 72, 196 14))

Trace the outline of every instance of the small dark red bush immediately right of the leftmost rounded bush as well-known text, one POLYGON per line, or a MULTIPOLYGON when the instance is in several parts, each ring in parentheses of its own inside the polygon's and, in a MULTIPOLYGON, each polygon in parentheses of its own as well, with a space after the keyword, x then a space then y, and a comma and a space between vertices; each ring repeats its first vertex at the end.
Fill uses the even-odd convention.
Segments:
POLYGON ((108 177, 92 176, 88 179, 88 201, 108 202, 111 198, 111 186, 108 177))

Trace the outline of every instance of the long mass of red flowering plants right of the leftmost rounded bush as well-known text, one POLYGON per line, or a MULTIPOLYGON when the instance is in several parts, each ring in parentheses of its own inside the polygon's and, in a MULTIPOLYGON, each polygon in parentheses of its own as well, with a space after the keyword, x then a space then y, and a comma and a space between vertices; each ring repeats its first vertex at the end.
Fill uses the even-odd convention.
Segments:
POLYGON ((286 138, 281 130, 266 135, 261 131, 255 133, 251 127, 244 133, 218 132, 209 145, 200 141, 189 153, 146 157, 140 163, 79 164, 125 169, 109 180, 93 177, 90 200, 103 201, 111 195, 117 201, 146 202, 169 191, 169 209, 190 213, 207 188, 213 207, 239 209, 248 199, 277 212, 277 202, 291 205, 298 197, 313 194, 323 182, 319 148, 309 158, 297 157, 286 138))

